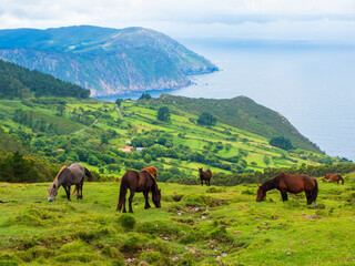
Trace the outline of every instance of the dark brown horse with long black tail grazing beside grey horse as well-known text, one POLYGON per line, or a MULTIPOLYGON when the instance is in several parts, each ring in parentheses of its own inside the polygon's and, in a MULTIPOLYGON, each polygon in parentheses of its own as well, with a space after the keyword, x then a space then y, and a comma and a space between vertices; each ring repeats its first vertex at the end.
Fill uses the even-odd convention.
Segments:
POLYGON ((121 180, 120 197, 116 211, 121 211, 123 205, 123 213, 125 213, 125 195, 128 188, 130 188, 131 192, 129 198, 130 213, 133 213, 132 200, 135 192, 143 192, 145 197, 144 208, 151 207, 151 205, 148 202, 148 195, 150 192, 152 192, 152 201, 155 207, 161 207, 161 191, 158 188, 158 184, 154 176, 151 175, 148 171, 136 172, 129 170, 124 173, 121 180))

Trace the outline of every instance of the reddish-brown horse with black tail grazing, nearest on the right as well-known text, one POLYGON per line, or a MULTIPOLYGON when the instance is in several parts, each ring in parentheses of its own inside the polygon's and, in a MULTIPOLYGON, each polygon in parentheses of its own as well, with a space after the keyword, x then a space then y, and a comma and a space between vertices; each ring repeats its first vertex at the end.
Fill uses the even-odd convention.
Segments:
POLYGON ((312 178, 308 175, 291 175, 281 173, 274 178, 265 181, 258 187, 256 202, 261 202, 266 196, 266 192, 274 188, 280 191, 283 201, 287 201, 287 192, 297 194, 304 191, 307 204, 315 202, 318 195, 318 184, 315 178, 312 178))

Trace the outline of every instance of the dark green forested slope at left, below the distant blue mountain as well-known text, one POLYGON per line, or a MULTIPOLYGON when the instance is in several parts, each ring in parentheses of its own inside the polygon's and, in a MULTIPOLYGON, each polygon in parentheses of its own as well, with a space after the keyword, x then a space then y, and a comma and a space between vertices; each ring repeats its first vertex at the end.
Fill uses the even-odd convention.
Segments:
POLYGON ((31 71, 14 63, 0 60, 0 98, 14 99, 54 95, 87 99, 90 91, 52 75, 31 71))

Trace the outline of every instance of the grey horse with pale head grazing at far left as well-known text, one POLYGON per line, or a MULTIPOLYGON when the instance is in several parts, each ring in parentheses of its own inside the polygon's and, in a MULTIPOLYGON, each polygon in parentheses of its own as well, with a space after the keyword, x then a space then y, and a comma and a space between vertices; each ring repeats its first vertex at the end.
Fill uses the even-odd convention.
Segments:
POLYGON ((78 191, 77 200, 82 200, 82 185, 84 183, 84 175, 88 176, 89 182, 93 181, 93 177, 89 170, 87 170, 82 164, 74 163, 69 167, 63 166, 57 174, 53 184, 50 185, 48 190, 48 201, 53 202, 58 190, 60 186, 63 186, 67 193, 67 198, 70 202, 70 186, 75 185, 75 190, 78 191), (79 195, 80 193, 80 195, 79 195))

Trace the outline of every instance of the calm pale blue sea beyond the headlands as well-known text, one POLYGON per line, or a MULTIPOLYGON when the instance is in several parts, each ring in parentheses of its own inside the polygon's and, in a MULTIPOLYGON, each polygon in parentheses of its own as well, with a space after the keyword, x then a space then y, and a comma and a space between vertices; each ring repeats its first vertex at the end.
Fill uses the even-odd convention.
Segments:
POLYGON ((152 96, 245 95, 280 112, 326 154, 355 161, 355 47, 221 39, 180 42, 221 71, 192 76, 195 84, 187 88, 150 92, 152 96))

